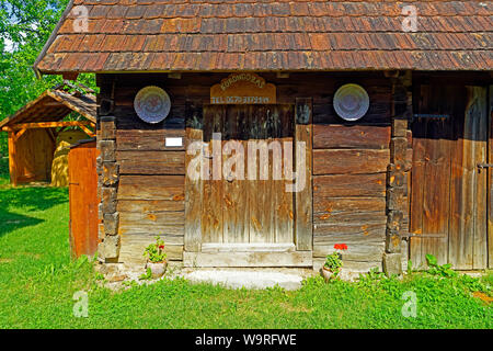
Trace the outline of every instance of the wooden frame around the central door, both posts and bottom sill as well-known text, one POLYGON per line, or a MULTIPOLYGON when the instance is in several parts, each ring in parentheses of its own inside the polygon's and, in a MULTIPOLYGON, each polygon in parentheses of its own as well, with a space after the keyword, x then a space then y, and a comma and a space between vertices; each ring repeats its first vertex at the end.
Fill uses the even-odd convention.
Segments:
MULTIPOLYGON (((204 104, 199 100, 187 100, 185 109, 185 146, 202 141, 204 137, 204 104)), ((183 262, 185 267, 312 267, 313 265, 313 196, 312 196, 312 99, 296 99, 294 140, 306 143, 306 163, 296 171, 303 171, 306 186, 295 193, 294 237, 290 245, 249 245, 234 246, 228 251, 214 245, 203 245, 202 223, 202 180, 192 180, 185 176, 185 246, 183 262)), ((185 151, 186 152, 186 151, 185 151)), ((185 170, 195 155, 185 155, 185 170)))

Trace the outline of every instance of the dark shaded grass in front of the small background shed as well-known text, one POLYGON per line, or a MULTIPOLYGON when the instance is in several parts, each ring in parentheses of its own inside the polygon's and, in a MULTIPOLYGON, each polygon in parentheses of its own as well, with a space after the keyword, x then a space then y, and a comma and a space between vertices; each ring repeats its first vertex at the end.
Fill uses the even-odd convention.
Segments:
POLYGON ((0 236, 14 229, 34 226, 43 222, 30 216, 32 212, 46 211, 68 201, 68 190, 50 186, 11 188, 8 159, 0 159, 0 236), (7 174, 5 174, 7 168, 7 174))

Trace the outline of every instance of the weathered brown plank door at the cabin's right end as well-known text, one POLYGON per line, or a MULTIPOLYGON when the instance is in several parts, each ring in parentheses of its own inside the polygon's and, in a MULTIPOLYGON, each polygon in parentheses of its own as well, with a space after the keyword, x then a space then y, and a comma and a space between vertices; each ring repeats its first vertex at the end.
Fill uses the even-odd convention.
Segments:
POLYGON ((488 267, 486 91, 422 86, 417 92, 410 230, 415 267, 425 267, 427 253, 459 270, 488 267))

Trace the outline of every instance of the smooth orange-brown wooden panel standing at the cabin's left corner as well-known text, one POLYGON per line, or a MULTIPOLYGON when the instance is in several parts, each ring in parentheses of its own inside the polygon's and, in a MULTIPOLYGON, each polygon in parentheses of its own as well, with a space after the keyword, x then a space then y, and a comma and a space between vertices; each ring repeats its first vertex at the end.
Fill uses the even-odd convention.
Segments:
POLYGON ((69 152, 70 246, 72 257, 92 257, 98 250, 98 149, 95 141, 69 152))

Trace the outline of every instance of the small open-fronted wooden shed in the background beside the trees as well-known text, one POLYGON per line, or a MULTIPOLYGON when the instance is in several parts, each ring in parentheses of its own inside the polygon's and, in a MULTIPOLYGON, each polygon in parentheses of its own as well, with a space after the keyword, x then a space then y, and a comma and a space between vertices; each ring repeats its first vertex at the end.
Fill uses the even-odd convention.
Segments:
POLYGON ((85 134, 83 138, 95 135, 95 97, 74 88, 66 82, 47 90, 0 122, 0 131, 9 133, 9 168, 13 186, 50 181, 57 137, 68 127, 82 129, 85 134), (72 112, 82 120, 64 122, 72 112))

